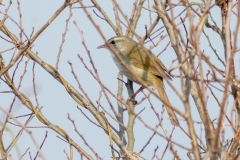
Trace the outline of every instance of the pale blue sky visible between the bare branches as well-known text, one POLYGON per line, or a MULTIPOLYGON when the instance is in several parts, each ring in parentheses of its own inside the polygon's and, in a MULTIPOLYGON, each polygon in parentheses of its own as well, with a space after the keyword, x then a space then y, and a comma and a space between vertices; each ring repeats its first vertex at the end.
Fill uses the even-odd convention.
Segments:
MULTIPOLYGON (((123 9, 124 13, 128 16, 131 14, 132 10, 132 3, 133 1, 118 1, 120 7, 123 9)), ((2 2, 5 6, 0 6, 1 11, 1 17, 2 13, 4 12, 6 6, 8 5, 8 0, 3 0, 2 2)), ((49 18, 56 12, 56 10, 64 3, 63 0, 31 0, 31 1, 21 1, 21 13, 22 13, 22 25, 24 28, 24 32, 30 36, 32 33, 32 29, 34 27, 34 33, 38 31, 48 20, 49 18)), ((83 3, 86 6, 92 5, 90 1, 84 0, 83 3)), ((104 1, 100 0, 98 1, 100 6, 103 8, 103 10, 106 11, 109 18, 115 23, 114 13, 112 9, 112 1, 104 1)), ((151 2, 152 3, 152 2, 151 2)), ((146 2, 147 4, 147 2, 146 2)), ((74 5, 73 7, 79 7, 79 4, 74 5)), ((97 11, 97 9, 94 9, 99 15, 100 13, 97 11)), ((176 10, 175 15, 180 13, 183 10, 183 8, 179 7, 178 10, 176 10)), ((99 25, 100 29, 104 33, 104 36, 109 39, 111 37, 116 36, 112 28, 102 19, 97 17, 94 12, 93 8, 88 8, 89 13, 91 14, 94 21, 99 25)), ((12 6, 9 9, 8 12, 9 16, 14 19, 17 23, 19 22, 19 13, 17 9, 17 1, 12 2, 12 6)), ((89 58, 87 55, 86 50, 84 49, 84 46, 82 45, 82 39, 81 35, 78 32, 76 26, 73 24, 73 21, 76 21, 79 28, 84 33, 84 39, 85 43, 90 50, 91 57, 93 59, 93 62, 97 68, 98 74, 100 75, 100 79, 103 82, 104 85, 106 85, 113 93, 117 93, 117 76, 118 76, 118 69, 115 66, 110 53, 108 50, 98 50, 97 47, 99 45, 102 45, 104 41, 102 40, 99 33, 96 31, 94 26, 91 24, 85 13, 82 9, 74 8, 72 9, 73 16, 71 17, 69 24, 68 24, 68 31, 67 35, 65 37, 65 42, 62 47, 62 53, 60 57, 59 62, 59 72, 60 74, 76 89, 78 89, 78 84, 76 83, 76 80, 74 79, 71 68, 68 64, 68 62, 71 62, 74 71, 76 75, 79 78, 79 81, 83 87, 83 89, 87 92, 88 96, 92 100, 92 102, 97 106, 96 101, 99 100, 99 96, 102 95, 100 85, 96 82, 96 80, 91 76, 91 74, 85 69, 83 64, 81 63, 80 59, 77 55, 80 55, 84 62, 87 64, 87 66, 91 69, 91 64, 89 62, 89 58)), ((146 10, 142 10, 141 12, 141 18, 139 20, 139 24, 137 26, 136 32, 139 35, 144 35, 145 28, 144 26, 149 26, 149 15, 146 10)), ((219 8, 215 7, 212 11, 212 16, 216 17, 220 14, 219 8)), ((152 14, 154 17, 154 14, 152 14)), ((183 14, 185 15, 185 14, 183 14)), ((183 16, 182 16, 183 17, 183 16)), ((62 34, 65 31, 66 27, 66 19, 69 18, 69 8, 66 8, 52 23, 51 25, 37 38, 37 40, 34 42, 34 45, 32 47, 32 51, 38 53, 38 56, 45 61, 46 63, 56 66, 57 61, 57 55, 59 53, 59 46, 62 42, 62 34)), ((153 18, 154 19, 154 18, 153 18)), ((220 19, 215 19, 218 25, 220 24, 220 19)), ((232 19, 232 23, 234 24, 234 17, 232 19)), ((180 19, 176 19, 175 23, 180 22, 180 19)), ((5 25, 9 28, 10 31, 12 31, 16 36, 19 36, 19 29, 18 27, 10 20, 7 19, 5 25)), ((187 25, 187 22, 186 22, 187 25)), ((161 27, 162 23, 158 25, 157 28, 161 27)), ((233 25, 235 27, 235 25, 233 25)), ((219 26, 221 27, 221 26, 219 26)), ((124 28, 124 26, 123 26, 124 28)), ((184 30, 182 26, 179 26, 180 31, 182 34, 184 33, 184 30)), ((123 31, 125 32, 125 28, 123 31)), ((163 29, 163 35, 166 34, 166 30, 163 29)), ((219 36, 212 32, 210 29, 206 29, 206 32, 208 33, 208 36, 210 37, 210 40, 212 42, 212 45, 216 49, 216 51, 219 53, 219 56, 221 58, 224 58, 224 52, 223 47, 220 41, 219 36), (221 44, 221 45, 219 45, 221 44)), ((0 34, 3 36, 3 34, 0 34)), ((165 38, 161 45, 154 48, 152 51, 155 54, 160 53, 166 46, 166 44, 169 42, 168 38, 165 38)), ((204 53, 210 57, 210 60, 220 68, 221 67, 220 62, 214 57, 213 52, 209 48, 209 44, 206 40, 204 40, 204 37, 201 37, 201 48, 204 50, 204 53)), ((12 44, 9 44, 5 42, 3 39, 0 39, 0 46, 1 51, 11 48, 12 44)), ((146 47, 151 46, 150 43, 146 44, 146 47)), ((6 64, 8 64, 9 60, 11 59, 13 51, 7 52, 3 54, 3 57, 6 60, 6 64)), ((176 59, 176 55, 171 48, 171 45, 167 47, 167 50, 163 52, 160 57, 161 61, 164 63, 164 65, 169 68, 172 61, 176 59)), ((27 58, 23 59, 23 62, 20 63, 19 68, 16 72, 14 82, 16 84, 20 81, 20 76, 22 75, 24 71, 24 65, 25 61, 27 61, 27 58)), ((177 62, 175 62, 173 65, 177 65, 177 62)), ((239 56, 236 55, 236 68, 239 69, 239 56)), ((27 95, 30 100, 36 105, 35 97, 33 93, 33 83, 32 83, 32 66, 33 62, 30 60, 28 62, 27 66, 27 72, 24 76, 24 79, 21 83, 20 91, 23 92, 25 95, 27 95)), ((12 75, 15 67, 13 67, 10 70, 10 75, 12 75)), ((207 67, 205 68, 207 70, 207 67)), ((178 72, 173 72, 177 74, 178 72)), ((79 130, 79 132, 84 136, 88 144, 94 148, 94 150, 102 157, 103 159, 110 159, 111 157, 111 151, 109 148, 109 138, 106 135, 106 133, 101 129, 96 127, 94 124, 92 124, 89 120, 87 120, 83 114, 77 109, 78 104, 69 96, 69 94, 66 92, 65 88, 56 81, 49 73, 47 73, 41 66, 38 64, 35 65, 35 82, 36 82, 36 89, 37 89, 37 95, 38 95, 38 101, 40 103, 40 106, 42 106, 42 113, 44 116, 48 118, 50 122, 52 122, 55 125, 58 125, 62 127, 67 133, 71 136, 71 138, 79 144, 82 148, 84 148, 89 154, 92 155, 92 157, 95 159, 94 154, 90 151, 88 147, 85 146, 83 140, 77 135, 77 133, 74 131, 72 123, 68 120, 68 114, 70 115, 71 119, 74 119, 75 124, 79 130)), ((239 76, 239 75, 238 75, 239 76)), ((127 81, 127 79, 124 77, 124 81, 127 81)), ((166 84, 166 83, 165 83, 166 84)), ((179 79, 175 78, 172 81, 172 84, 180 91, 180 81, 179 79)), ((134 84, 134 89, 137 90, 140 86, 137 84, 134 84)), ((10 90, 3 81, 0 82, 0 91, 7 91, 10 90)), ((78 89, 79 90, 79 89, 78 89)), ((144 90, 146 93, 147 90, 144 90)), ((179 110, 184 111, 184 106, 180 99, 176 96, 176 94, 173 92, 173 90, 166 84, 166 91, 169 95, 169 99, 171 101, 171 104, 175 107, 177 107, 179 110)), ((209 94, 209 91, 207 91, 209 94)), ((110 97, 110 100, 112 104, 117 107, 116 100, 108 94, 110 97)), ((218 94, 219 99, 221 99, 222 94, 218 94)), ((14 95, 11 93, 8 94, 2 94, 0 93, 0 106, 8 109, 9 106, 12 103, 14 95)), ((126 88, 124 88, 123 98, 126 100, 128 98, 126 88)), ((140 101, 143 98, 143 94, 139 94, 136 97, 137 101, 140 101)), ((153 96, 151 96, 152 103, 157 109, 157 112, 162 111, 162 103, 153 96)), ((193 119, 195 121, 199 121, 199 114, 197 113, 196 106, 193 103, 192 98, 190 98, 191 101, 191 111, 193 115, 193 119)), ((102 106, 106 110, 108 110, 111 113, 110 106, 108 105, 106 99, 102 95, 100 102, 102 106)), ((212 96, 209 97, 209 100, 207 102, 208 109, 211 119, 214 119, 218 116, 219 113, 219 107, 216 105, 216 102, 214 102, 214 99, 212 96)), ((229 107, 227 109, 227 112, 231 110, 232 105, 232 99, 229 99, 229 107)), ((144 111, 141 113, 141 117, 144 119, 144 121, 150 125, 151 127, 155 127, 157 123, 157 118, 154 115, 153 111, 150 108, 150 105, 147 101, 144 101, 141 105, 139 105, 136 108, 136 113, 140 112, 142 109, 144 111)), ((83 109, 84 113, 93 121, 95 121, 94 117, 85 109, 83 109)), ((29 114, 31 113, 24 105, 22 105, 18 100, 13 105, 13 112, 12 114, 14 116, 19 116, 22 114, 29 114)), ((125 115, 125 123, 127 122, 127 113, 125 115)), ((0 121, 4 121, 5 115, 0 112, 0 121)), ((118 128, 117 123, 111 120, 109 116, 107 116, 109 122, 111 122, 116 128, 118 128)), ((179 117, 181 120, 182 118, 179 117)), ((19 118, 19 120, 24 123, 26 120, 25 118, 19 118)), ((96 122, 96 121, 95 121, 96 122)), ((170 124, 170 122, 167 120, 167 113, 164 112, 164 126, 166 127, 165 130, 168 132, 168 134, 171 133, 173 126, 170 124)), ((187 126, 185 122, 182 122, 182 127, 187 130, 187 126)), ((11 124, 7 125, 15 134, 20 130, 19 127, 15 127, 11 124)), ((43 126, 36 117, 29 123, 28 126, 43 126)), ((202 136, 204 139, 204 127, 199 124, 195 124, 196 132, 197 134, 200 134, 202 132, 202 136)), ((40 145, 45 137, 46 131, 48 131, 46 141, 44 142, 42 153, 46 157, 46 159, 66 159, 66 155, 64 154, 63 150, 66 150, 66 152, 69 154, 69 145, 66 144, 64 141, 57 138, 57 134, 50 129, 47 128, 29 128, 31 131, 31 134, 36 138, 36 141, 40 145)), ((162 129, 158 129, 160 133, 163 134, 162 129)), ((136 120, 135 127, 135 152, 139 152, 142 147, 146 144, 146 142, 149 140, 150 136, 153 134, 153 132, 149 129, 147 129, 139 120, 136 120)), ((231 130, 230 128, 226 127, 226 138, 231 137, 231 130)), ((179 129, 175 128, 173 133, 173 140, 184 144, 186 147, 190 148, 190 140, 189 138, 179 129)), ((4 145, 8 146, 9 143, 12 141, 12 138, 9 134, 9 132, 4 133, 4 145)), ((30 139, 30 136, 28 133, 23 132, 21 138, 18 140, 17 145, 20 148, 20 152, 23 154, 28 147, 30 147, 29 151, 31 152, 32 157, 36 154, 36 148, 34 147, 33 142, 30 139)), ((144 152, 141 154, 146 159, 150 159, 153 155, 154 149, 159 146, 159 149, 157 151, 158 156, 161 156, 162 152, 164 151, 167 141, 163 138, 155 135, 151 143, 148 145, 148 147, 144 150, 144 152)), ((176 149, 179 149, 176 146, 176 149)), ((178 154, 180 157, 187 158, 186 152, 179 149, 178 154)), ((11 155, 13 159, 19 159, 15 148, 12 149, 11 155)), ((74 150, 74 159, 79 159, 79 154, 76 150, 74 150)), ((170 151, 166 152, 166 155, 164 156, 164 159, 169 159, 172 157, 172 154, 170 151)), ((29 159, 29 155, 25 155, 24 159, 29 159)))

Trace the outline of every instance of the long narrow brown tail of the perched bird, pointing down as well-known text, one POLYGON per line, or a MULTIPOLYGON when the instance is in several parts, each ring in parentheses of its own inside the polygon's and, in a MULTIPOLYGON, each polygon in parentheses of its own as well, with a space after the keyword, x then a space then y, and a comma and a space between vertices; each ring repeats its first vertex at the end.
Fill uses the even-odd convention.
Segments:
POLYGON ((159 81, 157 83, 158 84, 156 84, 155 87, 158 91, 158 94, 159 94, 160 98, 164 101, 163 104, 166 106, 165 108, 167 110, 167 113, 168 113, 168 116, 169 116, 169 119, 170 119, 171 123, 175 126, 179 126, 179 121, 177 119, 176 114, 169 107, 171 104, 170 104, 170 101, 168 100, 167 94, 165 92, 163 81, 161 79, 159 79, 159 81))

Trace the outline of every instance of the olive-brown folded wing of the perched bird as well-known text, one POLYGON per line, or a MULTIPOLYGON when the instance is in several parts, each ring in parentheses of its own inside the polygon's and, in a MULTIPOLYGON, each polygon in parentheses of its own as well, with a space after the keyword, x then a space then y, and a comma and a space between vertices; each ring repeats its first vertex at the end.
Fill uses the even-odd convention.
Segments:
POLYGON ((149 55, 152 57, 152 59, 154 60, 154 62, 156 63, 156 65, 159 67, 159 69, 162 70, 162 73, 160 73, 157 70, 155 64, 150 60, 149 56, 145 53, 145 51, 142 49, 140 44, 132 48, 132 51, 129 52, 130 54, 127 55, 129 58, 130 64, 134 65, 135 67, 141 68, 143 70, 147 70, 156 76, 168 77, 171 80, 172 78, 167 73, 167 68, 163 65, 160 59, 157 56, 155 56, 151 51, 149 50, 147 51, 149 55), (132 55, 131 53, 138 53, 138 54, 132 55))

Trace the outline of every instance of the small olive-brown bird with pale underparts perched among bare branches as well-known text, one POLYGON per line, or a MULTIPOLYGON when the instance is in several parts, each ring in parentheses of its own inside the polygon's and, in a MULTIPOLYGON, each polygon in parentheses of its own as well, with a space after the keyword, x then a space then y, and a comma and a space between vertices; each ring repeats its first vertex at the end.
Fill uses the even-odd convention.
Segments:
MULTIPOLYGON (((110 51, 112 59, 117 65, 120 74, 137 84, 140 83, 135 76, 141 78, 148 86, 153 86, 157 89, 160 98, 168 103, 165 103, 165 105, 170 105, 164 88, 163 78, 169 80, 172 80, 172 78, 161 60, 150 50, 127 36, 112 37, 105 44, 97 48, 105 48, 110 51), (122 60, 119 60, 114 52, 118 54, 122 60), (149 58, 149 56, 151 58, 149 58), (151 59, 154 62, 152 62, 151 59), (130 72, 121 61, 124 61, 125 64, 131 68, 132 72, 130 72), (132 73, 135 73, 135 76, 132 73)), ((179 121, 174 111, 168 106, 166 106, 166 111, 171 123, 175 126, 179 126, 179 121)))

